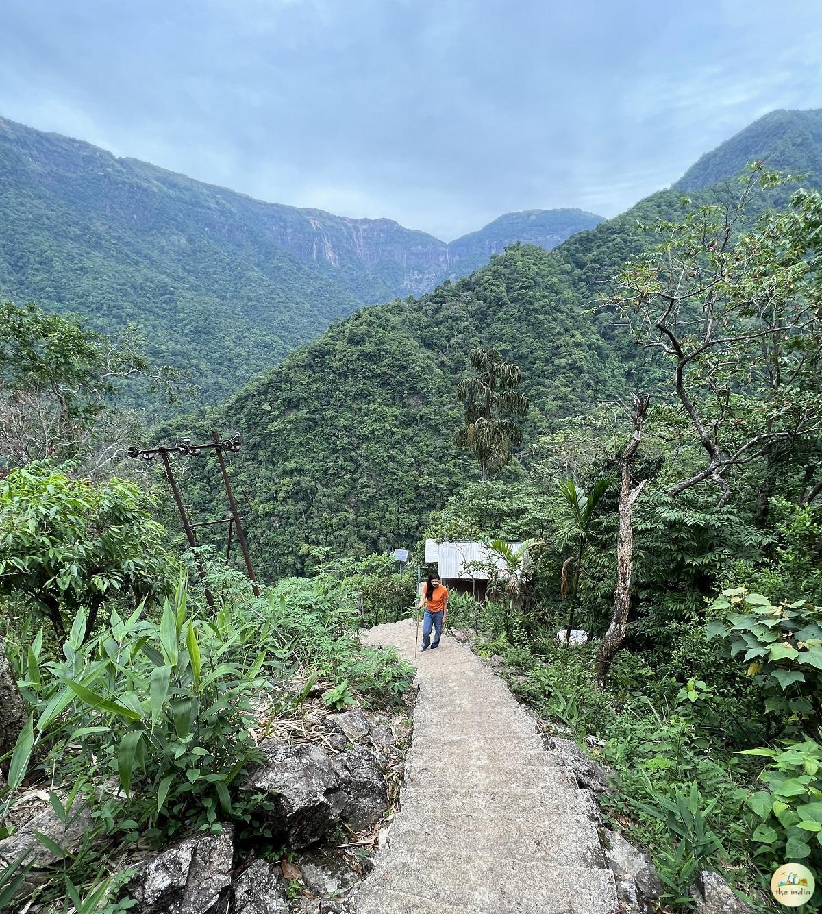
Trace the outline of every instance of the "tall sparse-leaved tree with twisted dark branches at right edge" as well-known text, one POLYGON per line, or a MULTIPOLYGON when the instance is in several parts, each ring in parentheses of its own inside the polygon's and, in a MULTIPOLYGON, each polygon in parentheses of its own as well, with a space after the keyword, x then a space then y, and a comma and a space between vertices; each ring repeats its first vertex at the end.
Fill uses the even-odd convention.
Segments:
POLYGON ((757 189, 782 182, 754 165, 734 202, 659 222, 665 240, 620 277, 612 303, 669 360, 680 426, 707 455, 671 496, 710 481, 726 505, 734 471, 822 428, 822 195, 797 190, 743 231, 757 189))

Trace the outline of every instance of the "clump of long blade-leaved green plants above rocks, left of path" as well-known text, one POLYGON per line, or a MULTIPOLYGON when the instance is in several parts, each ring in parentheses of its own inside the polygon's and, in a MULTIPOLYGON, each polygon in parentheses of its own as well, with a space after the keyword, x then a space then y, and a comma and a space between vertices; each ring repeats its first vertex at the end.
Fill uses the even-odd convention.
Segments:
MULTIPOLYGON (((112 611, 110 625, 86 643, 80 610, 65 659, 41 668, 39 643, 27 654, 21 686, 34 710, 21 739, 28 753, 42 744, 50 749, 46 763, 59 760, 64 777, 119 781, 128 816, 124 802, 103 798, 98 814, 109 827, 134 837, 138 829, 157 837, 190 824, 219 831, 219 816, 231 812, 232 781, 260 758, 248 733, 252 699, 270 687, 261 675, 265 633, 260 641, 247 609, 237 604, 198 619, 182 581, 160 622, 141 610, 125 620, 112 611)), ((22 755, 16 749, 13 761, 22 755)))

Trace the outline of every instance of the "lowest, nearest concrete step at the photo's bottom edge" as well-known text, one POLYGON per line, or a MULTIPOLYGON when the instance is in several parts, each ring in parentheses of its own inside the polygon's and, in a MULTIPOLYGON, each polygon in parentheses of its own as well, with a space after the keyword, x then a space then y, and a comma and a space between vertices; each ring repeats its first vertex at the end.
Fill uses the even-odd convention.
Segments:
POLYGON ((482 914, 615 914, 614 874, 584 866, 470 856, 441 847, 385 849, 368 877, 405 892, 482 914))

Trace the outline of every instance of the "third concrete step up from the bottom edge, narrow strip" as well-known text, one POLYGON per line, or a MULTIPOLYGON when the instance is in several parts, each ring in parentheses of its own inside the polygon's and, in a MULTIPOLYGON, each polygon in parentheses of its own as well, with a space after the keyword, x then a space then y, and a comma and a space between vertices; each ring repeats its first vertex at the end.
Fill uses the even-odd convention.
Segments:
POLYGON ((476 789, 409 784, 400 791, 400 807, 404 812, 420 813, 470 812, 474 815, 539 815, 565 817, 584 816, 597 822, 599 813, 590 791, 576 787, 553 785, 542 790, 518 788, 476 789))

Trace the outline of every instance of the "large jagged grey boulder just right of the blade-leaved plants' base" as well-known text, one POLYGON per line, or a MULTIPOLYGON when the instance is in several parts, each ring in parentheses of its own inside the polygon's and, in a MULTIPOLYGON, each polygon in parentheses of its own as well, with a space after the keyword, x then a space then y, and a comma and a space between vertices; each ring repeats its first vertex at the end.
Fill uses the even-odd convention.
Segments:
POLYGON ((269 794, 270 808, 263 814, 288 835, 292 847, 299 850, 319 841, 340 821, 345 804, 331 759, 306 743, 289 746, 271 739, 260 749, 268 763, 249 771, 238 785, 240 791, 269 794))

